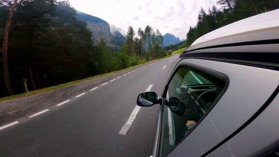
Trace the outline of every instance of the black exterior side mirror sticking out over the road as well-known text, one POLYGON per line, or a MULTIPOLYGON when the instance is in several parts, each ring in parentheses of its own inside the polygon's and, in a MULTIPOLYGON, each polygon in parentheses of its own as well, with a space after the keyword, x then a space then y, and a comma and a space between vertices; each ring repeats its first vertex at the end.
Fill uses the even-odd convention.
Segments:
POLYGON ((160 103, 160 100, 155 92, 144 92, 139 94, 137 104, 138 106, 149 107, 160 103))

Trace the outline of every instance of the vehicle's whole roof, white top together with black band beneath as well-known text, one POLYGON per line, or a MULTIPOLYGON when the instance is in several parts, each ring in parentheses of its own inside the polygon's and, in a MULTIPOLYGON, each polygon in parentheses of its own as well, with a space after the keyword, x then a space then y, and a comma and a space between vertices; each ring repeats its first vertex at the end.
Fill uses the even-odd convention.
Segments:
POLYGON ((279 71, 279 9, 252 16, 197 39, 180 55, 279 71))

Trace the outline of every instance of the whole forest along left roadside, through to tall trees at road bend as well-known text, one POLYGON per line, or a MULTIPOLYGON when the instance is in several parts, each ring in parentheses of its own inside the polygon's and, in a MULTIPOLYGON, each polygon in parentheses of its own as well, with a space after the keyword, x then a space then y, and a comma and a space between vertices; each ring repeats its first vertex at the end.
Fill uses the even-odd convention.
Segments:
POLYGON ((63 0, 0 0, 0 97, 91 77, 165 55, 149 26, 128 30, 120 52, 100 39, 63 0), (11 23, 11 25, 10 25, 11 23), (139 38, 135 37, 139 34, 139 38), (144 43, 148 42, 148 47, 144 43))

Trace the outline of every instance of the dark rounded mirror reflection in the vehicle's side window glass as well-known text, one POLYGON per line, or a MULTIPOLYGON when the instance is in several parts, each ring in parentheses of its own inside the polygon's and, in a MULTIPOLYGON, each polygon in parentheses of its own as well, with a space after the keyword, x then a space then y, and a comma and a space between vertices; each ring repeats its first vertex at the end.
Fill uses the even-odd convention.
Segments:
POLYGON ((178 97, 171 96, 167 102, 170 110, 178 115, 183 115, 186 109, 186 104, 178 97))

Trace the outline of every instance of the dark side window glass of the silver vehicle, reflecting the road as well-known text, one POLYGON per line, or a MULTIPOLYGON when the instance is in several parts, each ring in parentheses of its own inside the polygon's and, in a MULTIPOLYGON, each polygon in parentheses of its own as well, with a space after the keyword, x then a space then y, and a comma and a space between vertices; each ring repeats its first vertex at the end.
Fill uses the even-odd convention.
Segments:
POLYGON ((161 157, 168 156, 191 133, 224 87, 224 81, 198 70, 186 66, 178 69, 163 106, 161 157))

